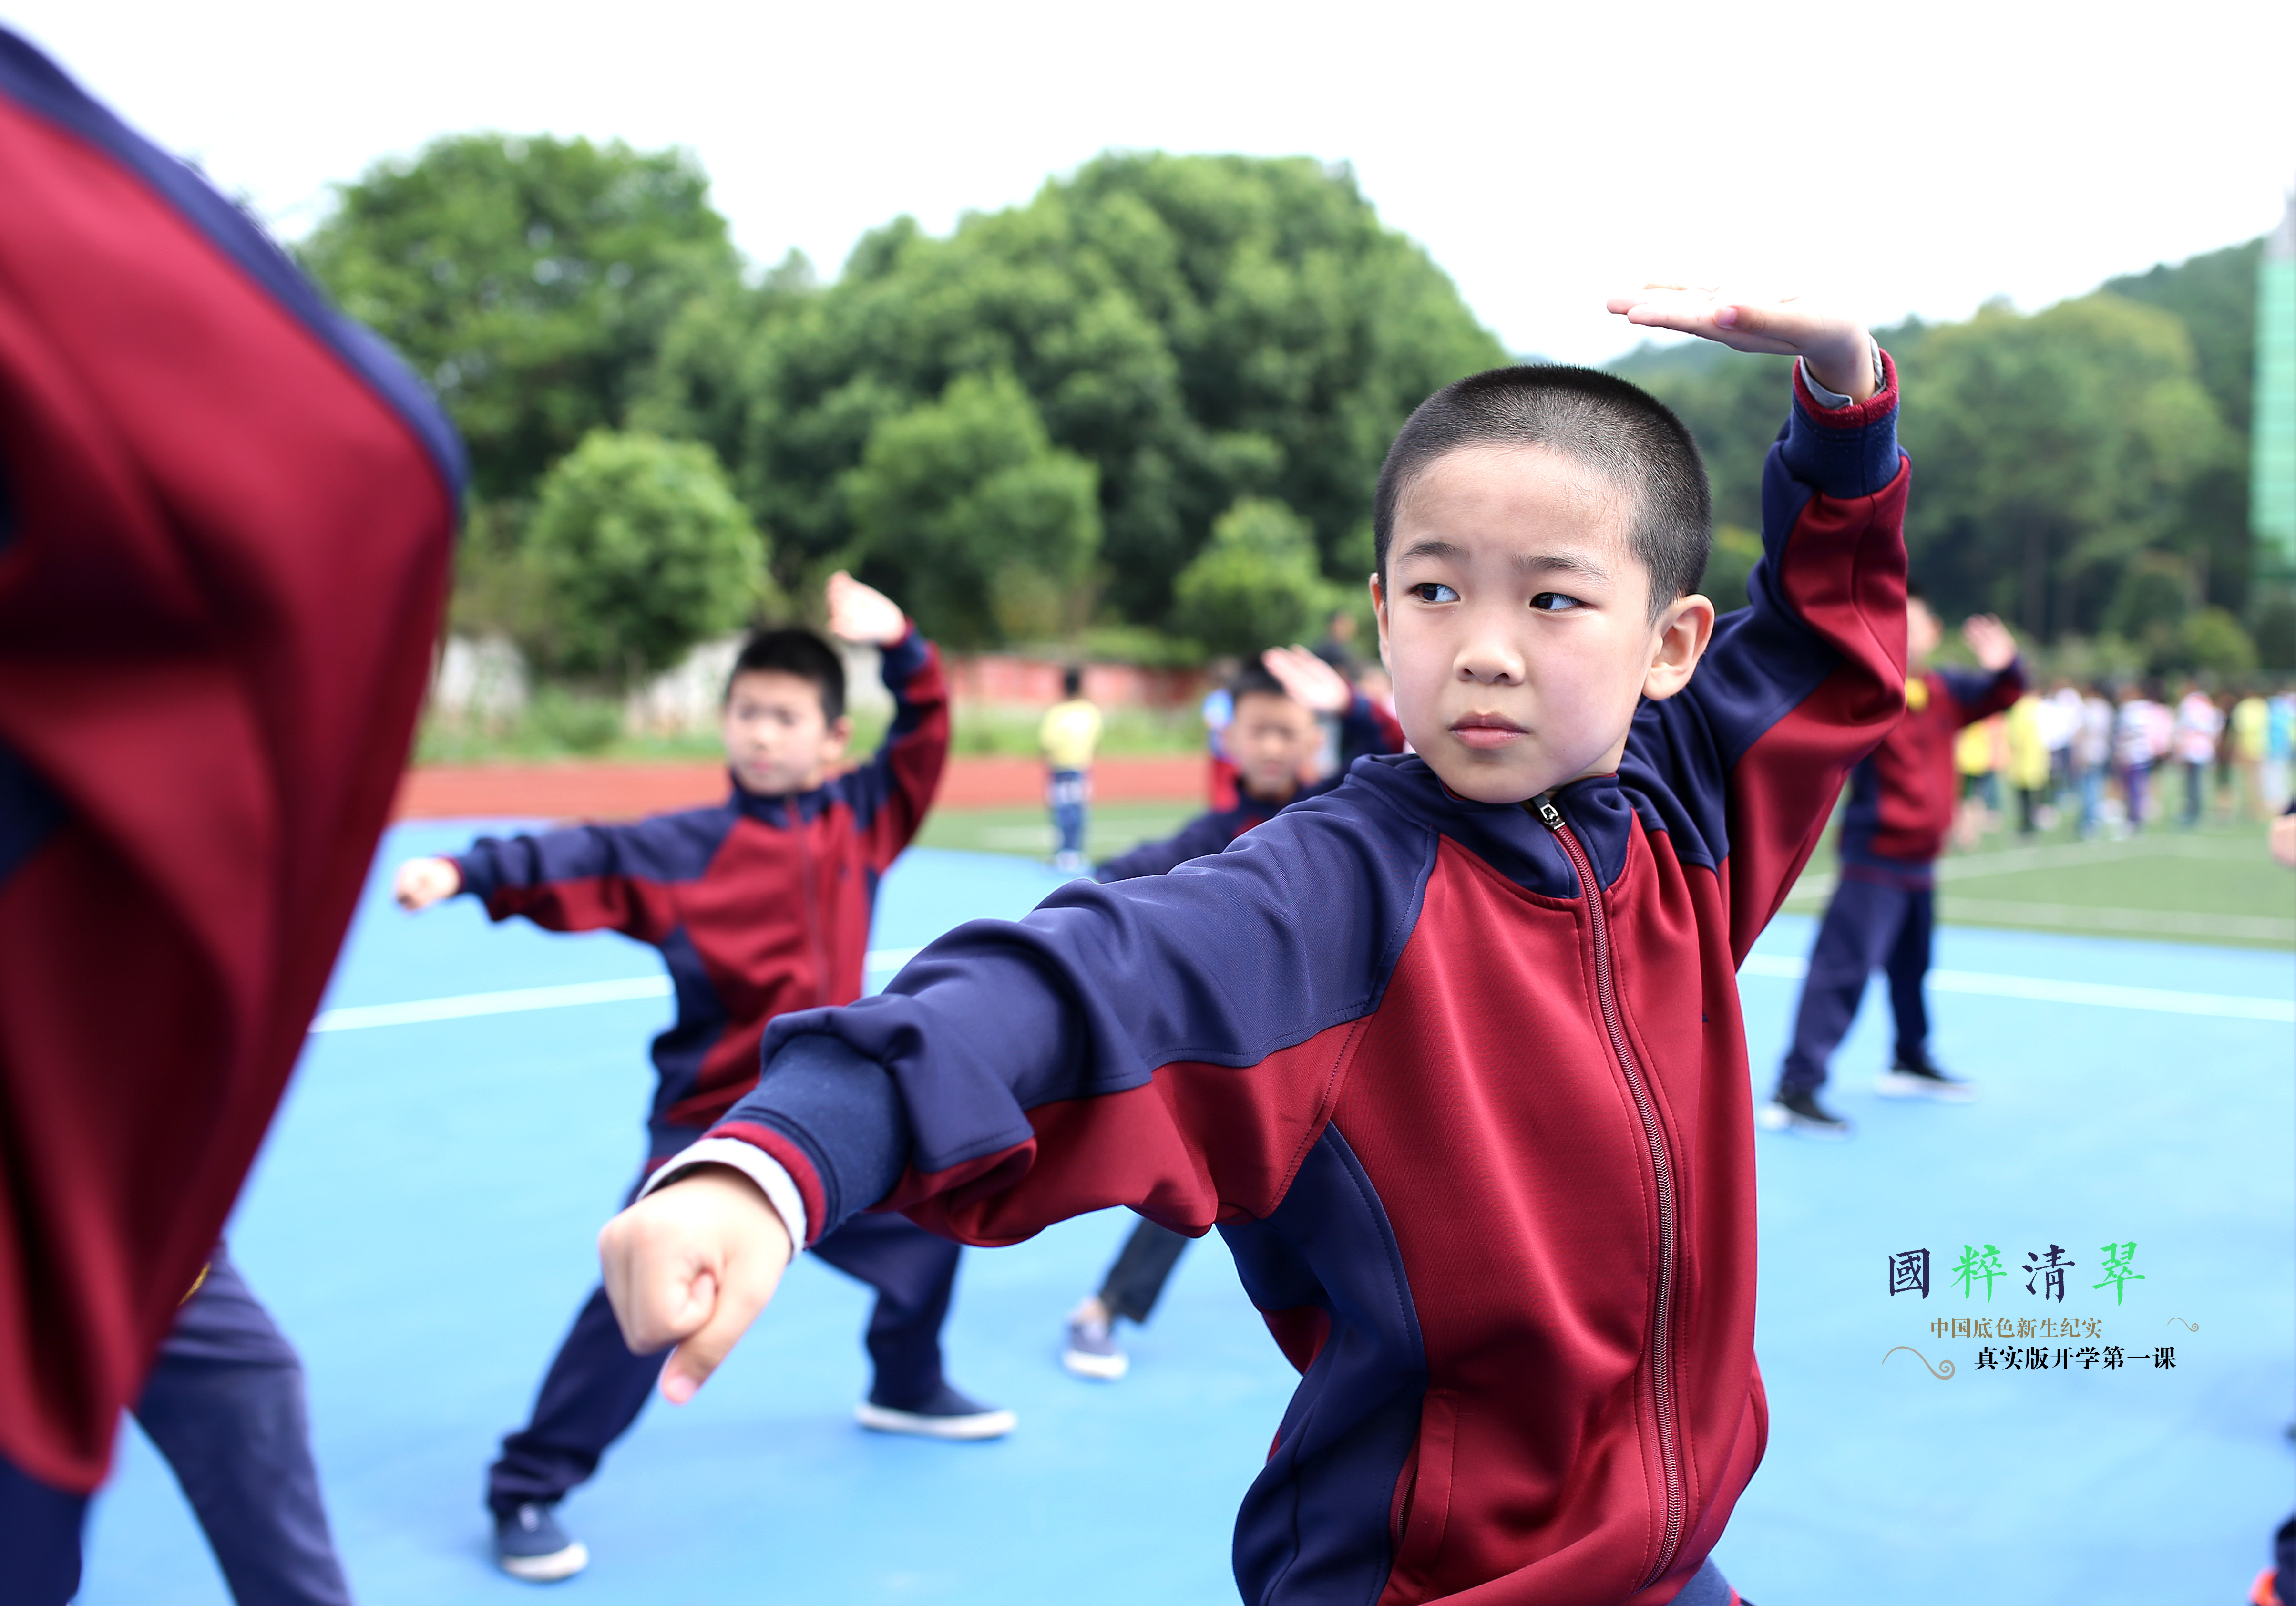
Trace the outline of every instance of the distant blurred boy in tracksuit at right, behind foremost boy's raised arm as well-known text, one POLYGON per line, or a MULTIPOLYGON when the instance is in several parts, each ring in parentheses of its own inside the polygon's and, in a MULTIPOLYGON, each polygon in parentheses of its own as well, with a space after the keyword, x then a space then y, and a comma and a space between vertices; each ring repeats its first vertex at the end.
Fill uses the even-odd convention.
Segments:
POLYGON ((1867 976, 1890 976, 1896 1055, 1880 1078, 1890 1098, 1958 1103, 1977 1091, 1929 1059, 1922 979, 1936 926, 1936 864, 1954 825, 1954 738, 2025 692, 2025 669, 2009 627, 1991 613, 1963 623, 1979 671, 1931 669, 1942 630, 1919 588, 1906 595, 1906 717, 1851 770, 1841 809, 1841 875, 1809 949, 1793 1048, 1777 1094, 1761 1110, 1770 1130, 1848 1137, 1851 1124, 1818 1103, 1825 1064, 1857 1018, 1867 976))

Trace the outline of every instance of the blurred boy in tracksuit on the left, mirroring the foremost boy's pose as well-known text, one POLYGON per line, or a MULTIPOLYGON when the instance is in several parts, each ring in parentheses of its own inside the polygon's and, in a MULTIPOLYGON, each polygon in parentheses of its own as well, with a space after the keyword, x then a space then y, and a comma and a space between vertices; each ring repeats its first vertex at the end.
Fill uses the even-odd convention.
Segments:
MULTIPOLYGON (((884 648, 893 728, 877 756, 845 774, 845 669, 804 630, 748 641, 726 692, 732 795, 709 809, 636 825, 583 825, 482 836, 455 859, 413 859, 400 901, 422 908, 468 891, 494 919, 523 914, 551 931, 620 931, 650 942, 670 970, 677 1020, 654 1039, 647 1163, 698 1140, 758 1080, 758 1041, 785 1011, 861 997, 877 880, 916 836, 948 756, 941 664, 879 593, 836 577, 831 632, 884 648)), ((1010 1411, 976 1404, 941 1376, 941 1321, 960 1248, 898 1215, 863 1215, 810 1245, 877 1289, 868 1351, 875 1383, 866 1427, 930 1438, 994 1438, 1010 1411)), ((574 1319, 535 1402, 487 1477, 498 1560, 523 1578, 579 1572, 588 1551, 551 1507, 597 1470, 638 1418, 657 1356, 631 1353, 604 1291, 574 1319)))

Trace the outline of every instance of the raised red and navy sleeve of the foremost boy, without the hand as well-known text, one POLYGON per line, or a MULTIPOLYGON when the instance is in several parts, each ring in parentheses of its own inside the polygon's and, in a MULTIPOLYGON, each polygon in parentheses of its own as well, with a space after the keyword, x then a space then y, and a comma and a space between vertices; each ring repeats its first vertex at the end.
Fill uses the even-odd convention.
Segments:
POLYGON ((1809 859, 1851 765, 1906 708, 1906 485, 1896 365, 1830 407, 1795 365, 1763 466, 1750 607, 1715 623, 1690 685, 1635 715, 1621 774, 1674 852, 1711 864, 1745 958, 1809 859))

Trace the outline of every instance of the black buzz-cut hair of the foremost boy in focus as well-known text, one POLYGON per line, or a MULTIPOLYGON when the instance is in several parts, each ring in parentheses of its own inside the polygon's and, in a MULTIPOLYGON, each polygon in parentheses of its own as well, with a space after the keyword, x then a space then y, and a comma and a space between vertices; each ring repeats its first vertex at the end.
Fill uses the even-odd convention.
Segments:
POLYGON ((1713 499, 1699 443, 1642 386, 1561 363, 1469 375, 1419 402, 1403 420, 1371 503, 1382 584, 1405 492, 1437 457, 1472 446, 1543 446, 1632 492, 1628 542, 1651 577, 1653 620, 1676 597, 1697 590, 1713 549, 1713 499))

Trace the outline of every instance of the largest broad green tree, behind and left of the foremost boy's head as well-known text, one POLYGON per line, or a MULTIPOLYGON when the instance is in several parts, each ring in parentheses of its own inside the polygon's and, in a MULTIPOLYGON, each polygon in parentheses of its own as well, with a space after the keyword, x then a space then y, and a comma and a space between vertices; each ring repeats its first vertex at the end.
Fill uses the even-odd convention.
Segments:
MULTIPOLYGON (((673 340, 657 395, 687 407, 739 375, 739 409, 684 416, 737 466, 785 579, 854 540, 845 476, 886 418, 1008 372, 1052 446, 1097 469, 1104 595, 1134 623, 1164 620, 1240 496, 1295 508, 1336 577, 1403 416, 1504 361, 1355 177, 1304 159, 1100 156, 946 239, 898 218, 836 285, 748 317, 735 361, 673 340)), ((687 312, 707 319, 739 324, 687 312)))

